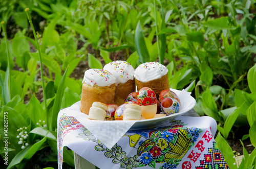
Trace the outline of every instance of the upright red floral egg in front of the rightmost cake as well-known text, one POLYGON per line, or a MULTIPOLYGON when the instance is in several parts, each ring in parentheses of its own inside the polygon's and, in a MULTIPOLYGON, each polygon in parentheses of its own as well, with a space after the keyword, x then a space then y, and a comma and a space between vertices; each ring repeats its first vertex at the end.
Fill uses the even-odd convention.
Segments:
POLYGON ((138 92, 137 101, 140 106, 154 105, 157 103, 157 96, 151 88, 143 87, 138 92))

